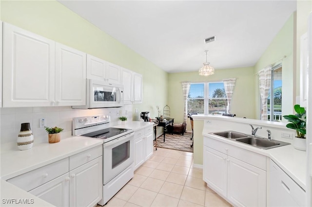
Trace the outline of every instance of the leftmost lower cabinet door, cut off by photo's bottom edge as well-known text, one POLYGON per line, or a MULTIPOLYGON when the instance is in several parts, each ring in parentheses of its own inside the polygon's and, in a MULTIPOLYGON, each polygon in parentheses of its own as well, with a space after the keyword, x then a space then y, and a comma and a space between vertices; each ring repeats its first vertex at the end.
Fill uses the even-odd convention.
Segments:
MULTIPOLYGON (((29 193, 36 195, 42 200, 57 206, 68 207, 69 206, 69 175, 63 174, 50 182, 47 182, 34 190, 30 190, 29 193)), ((36 201, 35 201, 36 202, 36 201)))

